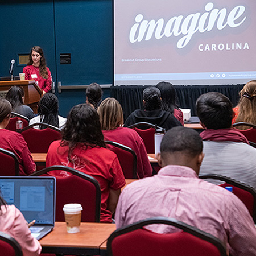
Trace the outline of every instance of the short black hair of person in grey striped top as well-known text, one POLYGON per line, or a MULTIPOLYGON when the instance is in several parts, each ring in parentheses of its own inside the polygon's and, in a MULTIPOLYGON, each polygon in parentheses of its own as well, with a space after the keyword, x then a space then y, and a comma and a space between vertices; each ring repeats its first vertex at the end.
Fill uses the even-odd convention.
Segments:
POLYGON ((225 95, 218 92, 209 92, 197 99, 196 113, 207 129, 230 128, 233 118, 233 105, 225 95))

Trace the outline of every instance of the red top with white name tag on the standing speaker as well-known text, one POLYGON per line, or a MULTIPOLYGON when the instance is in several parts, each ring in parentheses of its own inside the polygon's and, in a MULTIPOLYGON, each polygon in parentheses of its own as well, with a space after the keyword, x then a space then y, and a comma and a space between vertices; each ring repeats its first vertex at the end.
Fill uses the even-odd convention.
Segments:
POLYGON ((47 67, 46 69, 48 71, 47 79, 44 79, 42 76, 40 76, 39 67, 34 67, 33 65, 24 67, 23 73, 25 73, 26 80, 35 80, 38 82, 38 86, 44 90, 44 92, 49 92, 52 89, 52 75, 47 67))

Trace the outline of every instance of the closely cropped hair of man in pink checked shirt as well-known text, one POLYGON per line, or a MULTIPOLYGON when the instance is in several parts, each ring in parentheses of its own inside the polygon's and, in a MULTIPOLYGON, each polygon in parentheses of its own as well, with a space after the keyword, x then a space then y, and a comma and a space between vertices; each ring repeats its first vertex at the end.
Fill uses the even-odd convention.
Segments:
POLYGON ((183 152, 185 155, 195 157, 202 151, 203 142, 199 133, 183 126, 176 126, 168 130, 160 146, 162 156, 168 153, 183 152))

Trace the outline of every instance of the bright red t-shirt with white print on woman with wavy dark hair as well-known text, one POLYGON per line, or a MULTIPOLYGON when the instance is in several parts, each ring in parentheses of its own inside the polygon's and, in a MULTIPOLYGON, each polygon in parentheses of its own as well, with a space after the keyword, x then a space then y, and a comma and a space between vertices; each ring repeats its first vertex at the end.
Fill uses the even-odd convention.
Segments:
MULTIPOLYGON (((46 166, 69 166, 94 177, 101 187, 101 222, 112 222, 112 214, 107 209, 109 189, 118 190, 125 185, 125 177, 117 155, 107 148, 77 147, 68 159, 68 146, 61 147, 60 141, 52 142, 46 156, 46 166)), ((64 176, 63 171, 53 171, 52 175, 64 176)))

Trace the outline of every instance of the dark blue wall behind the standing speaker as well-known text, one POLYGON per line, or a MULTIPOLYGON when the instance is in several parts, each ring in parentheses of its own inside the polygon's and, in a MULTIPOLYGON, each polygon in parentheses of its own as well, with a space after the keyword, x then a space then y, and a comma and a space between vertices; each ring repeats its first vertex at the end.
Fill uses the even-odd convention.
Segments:
MULTIPOLYGON (((49 0, 0 2, 0 76, 22 72, 18 53, 41 46, 55 84, 113 84, 112 0, 49 0), (60 64, 60 53, 71 53, 71 64, 60 64)), ((85 101, 85 89, 57 93, 60 114, 85 101)), ((104 97, 109 97, 104 89, 104 97)))

